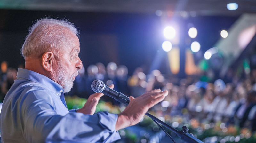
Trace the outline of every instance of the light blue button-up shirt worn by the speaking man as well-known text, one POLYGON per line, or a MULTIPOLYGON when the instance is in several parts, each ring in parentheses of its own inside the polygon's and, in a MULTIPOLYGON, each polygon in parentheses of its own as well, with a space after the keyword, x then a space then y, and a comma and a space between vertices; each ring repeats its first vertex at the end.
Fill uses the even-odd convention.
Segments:
POLYGON ((0 115, 2 143, 93 143, 120 139, 117 115, 68 111, 63 88, 39 73, 18 69, 0 115))

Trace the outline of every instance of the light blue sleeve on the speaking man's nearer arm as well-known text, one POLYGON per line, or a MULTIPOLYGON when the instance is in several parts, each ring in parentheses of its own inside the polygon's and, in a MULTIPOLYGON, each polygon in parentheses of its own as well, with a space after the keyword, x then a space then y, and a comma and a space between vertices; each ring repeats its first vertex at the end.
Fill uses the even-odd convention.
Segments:
POLYGON ((43 90, 29 92, 22 100, 21 120, 24 122, 24 137, 29 143, 108 143, 120 139, 115 130, 116 114, 70 112, 58 115, 51 97, 45 94, 43 90))

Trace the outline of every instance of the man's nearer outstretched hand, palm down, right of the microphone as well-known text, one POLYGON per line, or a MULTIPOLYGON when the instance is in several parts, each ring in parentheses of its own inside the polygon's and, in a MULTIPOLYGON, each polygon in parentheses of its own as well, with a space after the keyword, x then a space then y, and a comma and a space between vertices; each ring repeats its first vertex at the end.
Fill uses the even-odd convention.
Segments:
POLYGON ((156 89, 146 92, 137 98, 130 96, 129 105, 123 112, 118 114, 116 131, 139 123, 148 109, 163 101, 167 95, 168 91, 156 89))

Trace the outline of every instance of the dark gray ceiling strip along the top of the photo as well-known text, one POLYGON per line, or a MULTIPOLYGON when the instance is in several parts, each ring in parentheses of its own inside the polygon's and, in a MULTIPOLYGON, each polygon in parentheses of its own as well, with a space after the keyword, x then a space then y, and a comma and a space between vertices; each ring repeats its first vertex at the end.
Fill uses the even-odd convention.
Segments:
POLYGON ((256 13, 256 0, 0 0, 0 9, 76 12, 155 13, 195 11, 201 16, 239 16, 256 13), (229 11, 228 3, 238 9, 229 11))

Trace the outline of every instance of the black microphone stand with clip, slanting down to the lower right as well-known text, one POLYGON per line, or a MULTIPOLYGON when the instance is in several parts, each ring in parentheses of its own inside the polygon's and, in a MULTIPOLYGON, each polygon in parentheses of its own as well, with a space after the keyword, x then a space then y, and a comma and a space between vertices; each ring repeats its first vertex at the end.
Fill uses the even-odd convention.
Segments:
MULTIPOLYGON (((119 97, 116 99, 117 101, 124 103, 125 105, 129 104, 129 98, 125 96, 123 93, 119 92, 119 97)), ((174 133, 176 133, 178 135, 178 137, 181 138, 181 140, 185 141, 186 143, 204 143, 201 140, 197 139, 196 137, 194 137, 193 134, 188 133, 188 127, 183 126, 182 129, 183 130, 176 130, 175 128, 171 127, 170 125, 168 125, 167 123, 164 123, 163 121, 161 121, 160 119, 156 118, 155 116, 151 115, 150 113, 145 113, 145 115, 147 115, 148 117, 150 117, 152 120, 161 123, 163 126, 165 126, 166 128, 168 128, 169 130, 173 131, 174 133)))

